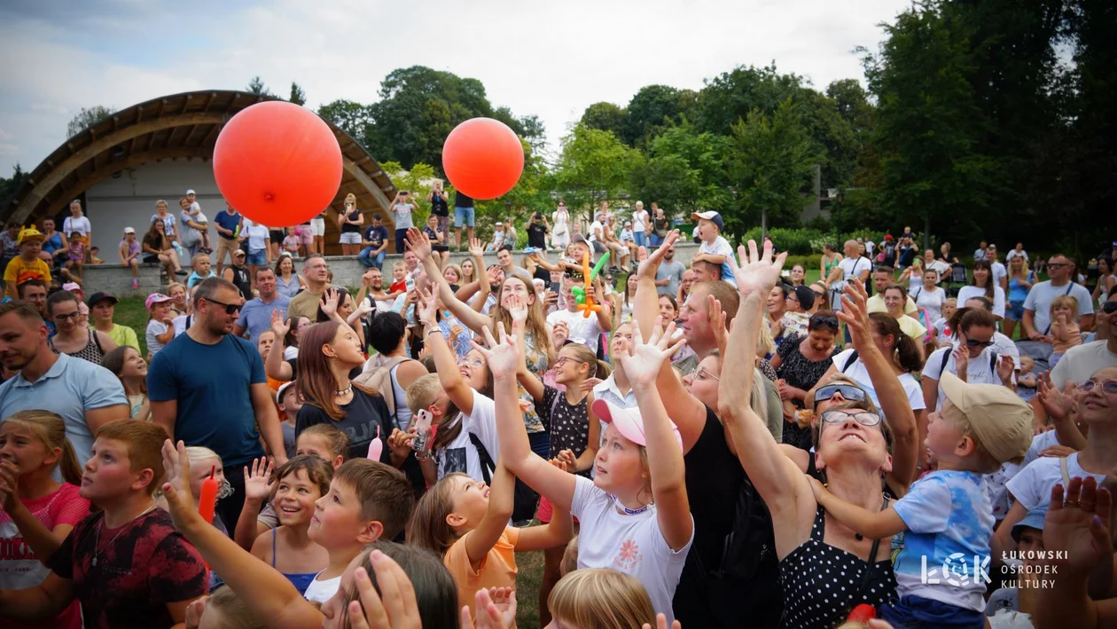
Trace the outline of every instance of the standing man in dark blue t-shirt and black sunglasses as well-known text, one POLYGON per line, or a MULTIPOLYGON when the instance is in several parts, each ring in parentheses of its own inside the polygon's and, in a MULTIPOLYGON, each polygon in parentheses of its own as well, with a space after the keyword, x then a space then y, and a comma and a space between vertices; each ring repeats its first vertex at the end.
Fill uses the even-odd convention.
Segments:
POLYGON ((147 372, 152 421, 175 441, 206 446, 221 457, 233 493, 217 511, 230 531, 245 504, 244 467, 264 456, 261 433, 275 464, 287 461, 264 359, 230 334, 239 311, 232 283, 210 277, 199 284, 190 328, 155 354, 147 372))

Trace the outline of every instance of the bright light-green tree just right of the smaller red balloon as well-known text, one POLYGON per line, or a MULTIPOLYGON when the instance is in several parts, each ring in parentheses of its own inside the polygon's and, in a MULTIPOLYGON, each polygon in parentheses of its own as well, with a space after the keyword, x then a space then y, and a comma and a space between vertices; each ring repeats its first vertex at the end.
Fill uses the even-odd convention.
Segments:
POLYGON ((611 132, 574 125, 562 139, 562 155, 555 169, 560 196, 572 209, 590 209, 614 199, 638 158, 611 132))

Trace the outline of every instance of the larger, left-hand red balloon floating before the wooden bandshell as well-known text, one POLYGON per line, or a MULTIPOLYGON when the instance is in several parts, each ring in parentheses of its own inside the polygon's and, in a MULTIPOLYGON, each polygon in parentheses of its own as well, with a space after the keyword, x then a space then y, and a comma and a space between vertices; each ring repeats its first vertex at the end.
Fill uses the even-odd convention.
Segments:
POLYGON ((337 196, 342 150, 314 112, 267 101, 226 123, 213 146, 213 178, 226 201, 251 220, 302 225, 337 196))

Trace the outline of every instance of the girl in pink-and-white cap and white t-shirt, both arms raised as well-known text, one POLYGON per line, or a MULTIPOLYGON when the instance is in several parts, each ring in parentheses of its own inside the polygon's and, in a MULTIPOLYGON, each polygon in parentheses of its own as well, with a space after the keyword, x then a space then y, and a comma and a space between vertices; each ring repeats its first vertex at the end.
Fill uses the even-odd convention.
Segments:
MULTIPOLYGON (((519 332, 514 328, 514 333, 519 332)), ((622 409, 596 400, 594 413, 608 423, 594 459, 593 480, 567 474, 531 449, 517 417, 515 378, 523 353, 515 337, 498 328, 500 342, 485 328, 486 354, 495 381, 496 425, 500 461, 556 507, 570 508, 581 524, 580 569, 617 568, 642 581, 652 608, 671 620, 671 598, 694 541, 694 518, 687 499, 682 447, 656 388, 667 358, 685 341, 671 342, 675 326, 650 343, 633 330, 626 355, 614 356, 624 369, 638 408, 622 409)))

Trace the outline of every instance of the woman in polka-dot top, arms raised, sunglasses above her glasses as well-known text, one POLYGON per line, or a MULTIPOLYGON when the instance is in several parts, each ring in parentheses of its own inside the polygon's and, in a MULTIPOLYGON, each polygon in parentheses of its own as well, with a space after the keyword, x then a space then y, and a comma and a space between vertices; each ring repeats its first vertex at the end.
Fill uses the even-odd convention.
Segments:
MULTIPOLYGON (((738 321, 729 333, 719 404, 737 456, 772 515, 775 554, 783 591, 782 627, 833 627, 842 623, 853 607, 880 607, 896 600, 896 578, 889 559, 888 540, 867 540, 834 521, 814 498, 811 479, 770 438, 763 421, 750 410, 747 378, 732 375, 751 361, 755 335, 762 325, 764 301, 779 277, 782 258, 772 261, 750 242, 751 256, 735 271, 741 294, 738 321), (747 264, 748 259, 752 264, 747 264), (884 543, 881 543, 884 542, 884 543), (842 583, 839 589, 836 584, 842 583)), ((842 297, 842 312, 855 346, 866 370, 879 387, 879 394, 898 430, 896 458, 890 455, 888 428, 871 398, 841 400, 831 394, 822 407, 814 454, 817 468, 830 492, 869 511, 888 507, 882 480, 905 493, 915 475, 917 432, 915 417, 905 400, 904 387, 892 372, 889 359, 872 339, 866 315, 867 295, 858 282, 850 283, 842 297), (898 474, 897 474, 898 473, 898 474)), ((822 388, 820 388, 822 389, 822 388)), ((850 389, 859 391, 858 389, 850 389)))

